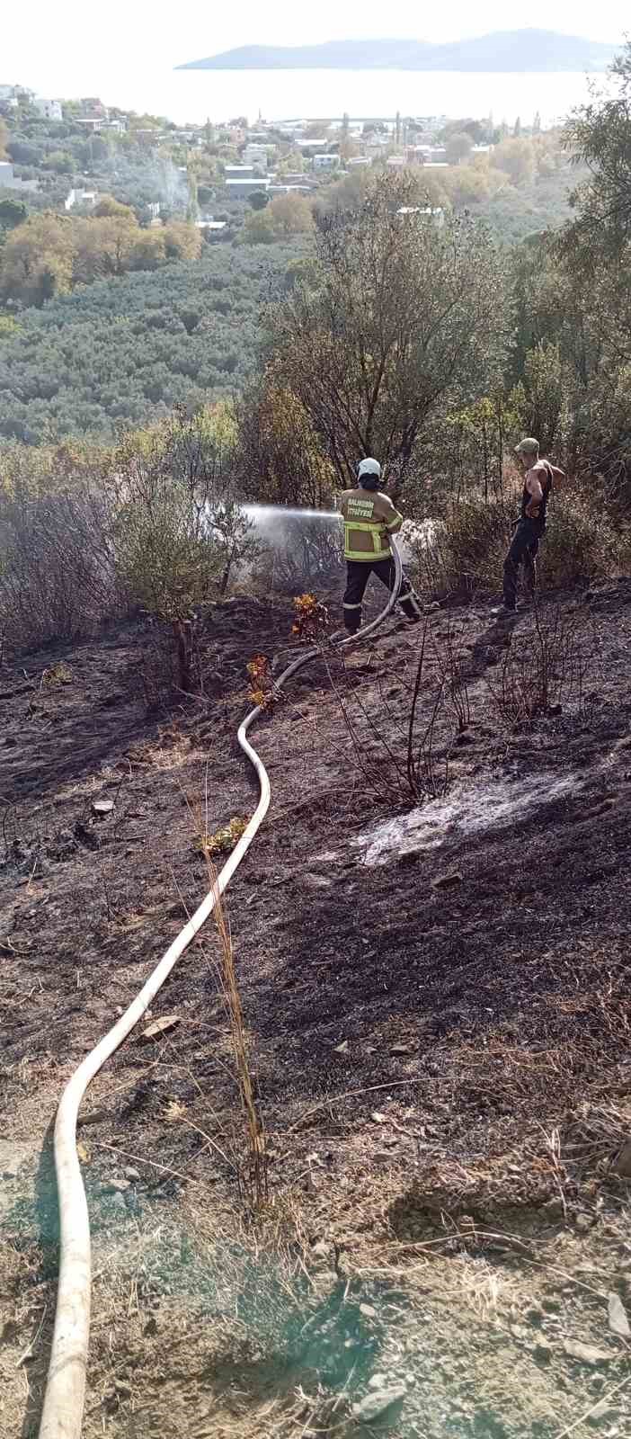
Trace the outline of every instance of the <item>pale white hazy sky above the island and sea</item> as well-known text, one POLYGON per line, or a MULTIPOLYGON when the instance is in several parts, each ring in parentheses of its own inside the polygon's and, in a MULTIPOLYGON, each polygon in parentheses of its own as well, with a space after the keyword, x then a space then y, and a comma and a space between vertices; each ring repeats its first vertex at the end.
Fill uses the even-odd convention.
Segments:
POLYGON ((32 0, 3 6, 0 83, 32 85, 43 94, 91 94, 103 89, 108 73, 147 76, 174 65, 214 55, 234 45, 299 45, 329 39, 404 36, 450 40, 489 30, 540 26, 584 35, 594 40, 621 40, 631 30, 628 0, 530 0, 507 13, 505 0, 446 0, 420 13, 418 3, 400 0, 394 10, 365 0, 319 0, 289 4, 283 0, 241 0, 240 6, 208 0, 32 0), (214 14, 213 14, 214 12, 214 14))

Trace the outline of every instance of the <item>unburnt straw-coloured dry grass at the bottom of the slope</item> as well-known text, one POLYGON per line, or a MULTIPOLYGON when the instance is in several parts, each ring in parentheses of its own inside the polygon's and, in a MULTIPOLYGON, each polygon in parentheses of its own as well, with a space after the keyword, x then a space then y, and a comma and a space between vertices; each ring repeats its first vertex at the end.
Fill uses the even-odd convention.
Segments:
MULTIPOLYGON (((172 1061, 185 1069, 177 1042, 168 1043, 172 1061)), ((175 1115, 172 1122, 184 1124, 187 1115, 175 1115)), ((597 1107, 582 1122, 584 1141, 594 1135, 592 1143, 599 1144, 624 1128, 627 1111, 597 1107)), ((405 1413, 421 1432, 434 1435, 427 1404, 451 1412, 456 1379, 448 1366, 459 1356, 466 1392, 474 1394, 471 1417, 492 1406, 503 1415, 506 1432, 520 1436, 543 1416, 543 1432, 551 1439, 561 1436, 565 1426, 578 1423, 592 1397, 584 1376, 575 1374, 571 1389, 561 1393, 558 1370, 548 1374, 533 1366, 526 1343, 530 1321, 525 1318, 530 1308, 540 1312, 542 1302, 553 1299, 566 1309, 571 1334, 601 1347, 609 1343, 611 1392, 625 1380, 627 1358, 620 1341, 602 1335, 607 1294, 617 1282, 611 1239, 607 1253, 598 1249, 598 1232, 592 1242, 566 1240, 559 1249, 556 1226, 542 1232, 536 1210, 525 1210, 523 1225, 517 1225, 515 1209, 506 1209, 512 1168, 533 1174, 546 1156, 552 1166, 551 1135, 552 1128, 540 1135, 539 1151, 529 1160, 506 1156, 492 1177, 489 1166, 464 1168, 447 1158, 431 1177, 427 1163, 417 1161, 415 1189, 407 1183, 410 1166, 378 1173, 367 1135, 349 1135, 344 1210, 339 1190, 303 1191, 298 1186, 269 1200, 253 1225, 246 1212, 214 1197, 207 1184, 188 1181, 177 1209, 147 1202, 135 1217, 129 1213, 122 1223, 114 1216, 99 1223, 86 1439, 103 1432, 141 1432, 144 1439, 165 1433, 170 1439, 214 1439, 217 1433, 230 1439, 306 1439, 310 1433, 345 1439, 354 1432, 351 1404, 365 1393, 371 1370, 405 1368, 420 1376, 405 1413), (358 1143, 352 1145, 352 1140, 358 1143), (420 1238, 397 1236, 397 1206, 401 1215, 420 1216, 415 1206, 434 1181, 451 1196, 463 1196, 460 1215, 433 1230, 423 1220, 420 1238), (463 1212, 480 1183, 494 1196, 492 1223, 463 1212), (344 1321, 336 1343, 348 1360, 332 1379, 329 1348, 321 1353, 319 1341, 310 1348, 306 1338, 313 1325, 325 1337, 336 1314, 348 1314, 351 1322, 359 1302, 374 1311, 361 1338, 377 1341, 374 1358, 368 1368, 362 1360, 355 1368, 361 1344, 345 1350, 344 1321), (423 1379, 427 1373, 433 1376, 430 1389, 423 1379)), ((561 1138, 568 1164, 568 1134, 561 1138)), ((627 1223, 621 1209, 615 1219, 621 1243, 627 1223)), ((52 1294, 42 1282, 36 1245, 11 1245, 3 1258, 4 1276, 14 1295, 6 1311, 14 1328, 6 1331, 9 1344, 0 1363, 0 1433, 9 1439, 19 1432, 24 1407, 33 1416, 34 1435, 43 1379, 39 1357, 16 1364, 43 1318, 47 1324, 52 1294)), ((566 1366, 555 1335, 552 1314, 548 1341, 559 1354, 555 1366, 566 1366)))

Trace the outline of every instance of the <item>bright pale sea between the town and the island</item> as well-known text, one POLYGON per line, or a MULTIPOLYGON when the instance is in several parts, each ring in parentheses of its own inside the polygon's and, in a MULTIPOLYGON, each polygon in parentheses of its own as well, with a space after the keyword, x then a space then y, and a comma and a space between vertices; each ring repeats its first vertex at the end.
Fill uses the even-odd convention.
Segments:
MULTIPOLYGON (((101 86, 105 104, 178 125, 227 121, 239 115, 279 119, 355 119, 401 115, 447 118, 493 115, 496 124, 543 125, 562 121, 584 104, 589 85, 604 75, 467 73, 450 71, 167 71, 109 72, 101 86)), ((49 94, 46 91, 46 94, 49 94)), ((69 92, 66 92, 69 94, 69 92)))

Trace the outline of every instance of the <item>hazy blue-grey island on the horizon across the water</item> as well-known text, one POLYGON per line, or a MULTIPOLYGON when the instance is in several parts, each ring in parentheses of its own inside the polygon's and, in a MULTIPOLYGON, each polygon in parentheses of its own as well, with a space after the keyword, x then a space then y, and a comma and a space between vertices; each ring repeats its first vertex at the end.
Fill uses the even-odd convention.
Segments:
POLYGON ((499 30, 476 40, 329 40, 241 45, 178 71, 605 71, 620 49, 555 30, 499 30))

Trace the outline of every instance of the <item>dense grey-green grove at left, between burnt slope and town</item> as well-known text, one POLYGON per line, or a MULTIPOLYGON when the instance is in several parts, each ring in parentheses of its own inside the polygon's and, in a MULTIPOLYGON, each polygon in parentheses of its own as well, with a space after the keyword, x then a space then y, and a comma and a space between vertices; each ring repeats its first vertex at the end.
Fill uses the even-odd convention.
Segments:
POLYGON ((260 305, 300 242, 206 248, 194 262, 98 281, 0 331, 0 436, 36 445, 160 419, 240 390, 259 360, 260 305))

